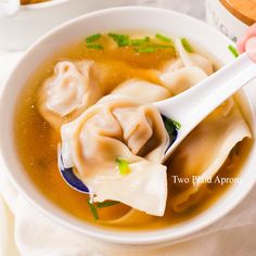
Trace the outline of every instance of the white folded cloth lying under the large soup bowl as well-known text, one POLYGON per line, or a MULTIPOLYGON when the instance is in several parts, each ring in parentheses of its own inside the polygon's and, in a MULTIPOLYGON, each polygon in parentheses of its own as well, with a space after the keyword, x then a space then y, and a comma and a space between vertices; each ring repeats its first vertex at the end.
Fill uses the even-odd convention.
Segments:
MULTIPOLYGON (((0 57, 0 88, 8 71, 11 71, 20 56, 21 53, 15 53, 0 57)), ((255 88, 247 90, 256 97, 255 88)), ((254 107, 256 111, 256 102, 254 107)), ((256 254, 256 188, 229 215, 179 243, 157 247, 114 245, 87 238, 49 219, 16 192, 4 168, 3 163, 0 163, 0 256, 256 254)))

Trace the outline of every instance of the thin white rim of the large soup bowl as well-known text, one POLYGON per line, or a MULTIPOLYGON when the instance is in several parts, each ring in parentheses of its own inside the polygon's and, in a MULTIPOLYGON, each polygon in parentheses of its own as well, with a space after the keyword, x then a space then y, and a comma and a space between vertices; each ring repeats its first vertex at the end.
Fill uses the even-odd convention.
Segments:
MULTIPOLYGON (((52 29, 51 31, 49 31, 48 34, 46 34, 43 37, 41 37, 39 40, 37 40, 31 47, 29 47, 27 49, 27 51, 25 52, 25 54, 20 59, 20 61, 17 62, 15 68, 12 71, 8 81, 5 82, 5 85, 3 86, 3 90, 1 93, 1 98, 0 98, 0 112, 1 108, 3 108, 3 95, 4 92, 8 90, 8 85, 10 84, 11 79, 13 79, 12 77, 14 77, 16 69, 18 68, 18 66, 24 62, 24 60, 26 60, 27 55, 29 54, 30 51, 37 49, 37 47, 41 43, 44 42, 44 40, 47 40, 48 38, 52 37, 54 34, 59 33, 62 29, 66 29, 66 27, 68 27, 69 25, 74 25, 76 23, 80 23, 84 20, 90 18, 90 17, 95 17, 95 16, 100 16, 102 14, 106 14, 106 13, 116 13, 116 12, 132 12, 132 11, 141 11, 141 12, 158 12, 158 15, 161 15, 161 13, 165 13, 168 15, 172 15, 172 16, 180 16, 183 20, 188 20, 191 21, 200 26, 204 26, 207 27, 207 29, 210 29, 210 31, 213 34, 215 34, 218 37, 222 37, 227 42, 232 43, 232 41, 228 38, 226 38, 222 34, 220 34, 219 31, 217 31, 216 29, 209 27, 208 25, 204 24, 203 22, 181 14, 181 13, 177 13, 170 10, 164 10, 164 9, 159 9, 159 8, 149 8, 149 7, 120 7, 120 8, 111 8, 111 9, 104 9, 104 10, 100 10, 100 11, 95 11, 95 12, 91 12, 88 14, 85 14, 82 16, 76 17, 72 21, 68 21, 66 23, 64 23, 61 26, 57 26, 56 28, 52 29)), ((252 104, 249 103, 248 99, 247 103, 249 105, 249 111, 251 114, 253 116, 253 121, 255 124, 255 115, 252 111, 252 104)), ((251 127, 252 128, 252 127, 251 127)), ((1 138, 0 138, 1 139, 1 138)), ((0 140, 1 142, 1 140, 0 140)), ((2 143, 0 143, 0 156, 2 156, 3 158, 3 163, 7 166, 7 170, 10 169, 10 166, 8 164, 8 162, 5 161, 4 157, 4 151, 3 151, 3 146, 2 143)), ((5 171, 8 174, 8 176, 10 177, 12 183, 15 185, 15 188, 17 189, 17 191, 36 208, 38 208, 41 213, 43 213, 46 216, 50 217, 52 220, 56 221, 57 223, 61 223, 62 226, 68 228, 69 230, 73 231, 78 231, 81 234, 85 235, 89 235, 91 238, 94 239, 100 239, 106 242, 111 242, 111 243, 119 243, 119 244, 130 244, 130 245, 136 245, 136 244, 156 244, 156 243, 164 243, 164 242, 176 242, 179 241, 180 239, 187 238, 188 235, 195 233, 199 230, 202 230, 206 227, 208 227, 209 225, 214 223, 215 221, 217 221, 218 219, 220 219, 221 217, 223 217, 225 215, 227 215, 231 209, 233 209, 247 194, 248 192, 252 190, 252 188, 254 187, 255 182, 256 182, 256 176, 255 179, 251 181, 251 183, 248 185, 246 185, 246 190, 243 191, 242 195, 239 196, 239 200, 236 199, 235 202, 233 202, 232 204, 229 204, 229 206, 225 207, 225 210, 219 210, 216 212, 214 216, 212 216, 210 218, 207 217, 207 213, 203 213, 203 215, 205 216, 204 221, 203 218, 201 217, 201 215, 199 215, 199 218, 202 218, 201 222, 197 225, 193 225, 192 227, 190 227, 189 229, 179 231, 179 232, 171 232, 174 231, 172 228, 174 227, 169 227, 166 229, 161 229, 159 231, 142 231, 142 232, 127 232, 127 231, 119 231, 119 230, 107 230, 105 231, 103 228, 101 227, 97 227, 93 228, 91 225, 87 223, 81 227, 77 227, 75 221, 72 221, 72 218, 61 218, 60 217, 60 213, 54 212, 53 209, 49 210, 47 209, 46 206, 42 206, 39 204, 39 202, 37 202, 37 200, 35 200, 35 197, 30 196, 28 191, 26 191, 24 188, 22 188, 23 185, 18 183, 17 179, 11 174, 11 171, 5 171), (57 217, 59 214, 59 217, 57 217), (206 218, 207 217, 207 218, 206 218), (85 229, 84 227, 87 227, 89 229, 85 229)), ((227 194, 228 192, 226 192, 227 194)), ((238 194, 238 193, 236 193, 238 194)), ((239 194, 238 194, 239 195, 239 194)), ((222 195, 221 197, 223 197, 225 195, 222 195)), ((50 202, 49 202, 50 203, 50 202)), ((219 205, 218 208, 220 208, 220 201, 218 203, 216 203, 215 205, 219 205)), ((50 205, 50 204, 49 204, 50 205)), ((225 204, 222 204, 222 206, 225 206, 225 204)), ((216 208, 216 207, 215 207, 216 208)), ((210 214, 213 215, 213 213, 210 214)), ((65 217, 65 214, 62 215, 62 217, 65 217)), ((79 221, 81 222, 81 221, 79 221)))

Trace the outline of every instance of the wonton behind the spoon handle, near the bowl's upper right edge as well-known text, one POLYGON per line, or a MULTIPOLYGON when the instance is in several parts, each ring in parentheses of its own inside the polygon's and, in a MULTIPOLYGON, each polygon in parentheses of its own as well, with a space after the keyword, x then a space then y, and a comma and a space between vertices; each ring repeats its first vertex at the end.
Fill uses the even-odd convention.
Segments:
POLYGON ((159 78, 172 94, 179 94, 213 74, 214 65, 199 53, 187 52, 180 39, 175 44, 178 59, 167 63, 159 78))

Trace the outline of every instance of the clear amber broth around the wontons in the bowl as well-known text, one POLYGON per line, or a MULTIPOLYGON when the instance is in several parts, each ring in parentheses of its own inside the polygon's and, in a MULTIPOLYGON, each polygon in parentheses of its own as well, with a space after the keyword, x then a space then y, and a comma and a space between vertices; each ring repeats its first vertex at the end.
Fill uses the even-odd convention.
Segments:
MULTIPOLYGON (((43 195, 72 216, 81 220, 107 228, 131 230, 158 229, 188 221, 220 199, 221 194, 227 191, 230 184, 207 185, 206 193, 203 195, 201 202, 181 214, 175 213, 171 209, 168 200, 164 217, 152 216, 149 222, 142 221, 141 223, 129 226, 104 222, 104 220, 119 218, 130 210, 130 207, 118 204, 100 209, 100 220, 94 221, 87 204, 88 195, 71 189, 62 179, 57 169, 56 158, 60 135, 54 131, 37 111, 37 91, 43 79, 52 74, 53 66, 57 61, 88 59, 100 63, 107 63, 112 72, 107 77, 102 78, 100 85, 105 93, 107 93, 116 85, 133 77, 161 84, 155 73, 149 69, 157 71, 163 68, 165 62, 174 56, 175 52, 167 49, 162 49, 157 53, 136 54, 127 48, 89 50, 85 42, 79 42, 61 50, 51 60, 47 60, 37 68, 20 97, 15 115, 14 135, 17 153, 24 169, 43 195), (136 67, 136 69, 129 68, 128 66, 136 67)), ((218 176, 238 177, 249 151, 249 141, 245 140, 243 143, 240 143, 238 146, 239 157, 231 158, 230 156, 219 170, 218 176), (230 162, 232 162, 232 168, 230 168, 230 162)), ((168 182, 170 188, 175 188, 170 178, 168 182)), ((172 192, 175 193, 176 191, 172 192)))

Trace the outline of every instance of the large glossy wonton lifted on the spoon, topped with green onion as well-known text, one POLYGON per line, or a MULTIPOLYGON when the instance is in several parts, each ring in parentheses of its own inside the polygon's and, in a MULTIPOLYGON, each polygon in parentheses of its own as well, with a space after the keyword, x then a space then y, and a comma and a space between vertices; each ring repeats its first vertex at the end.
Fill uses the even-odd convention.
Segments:
POLYGON ((154 106, 106 97, 63 125, 61 135, 64 165, 75 167, 94 202, 114 200, 150 215, 164 215, 167 178, 161 159, 168 136, 154 106), (129 163, 129 174, 120 175, 117 157, 129 163))

